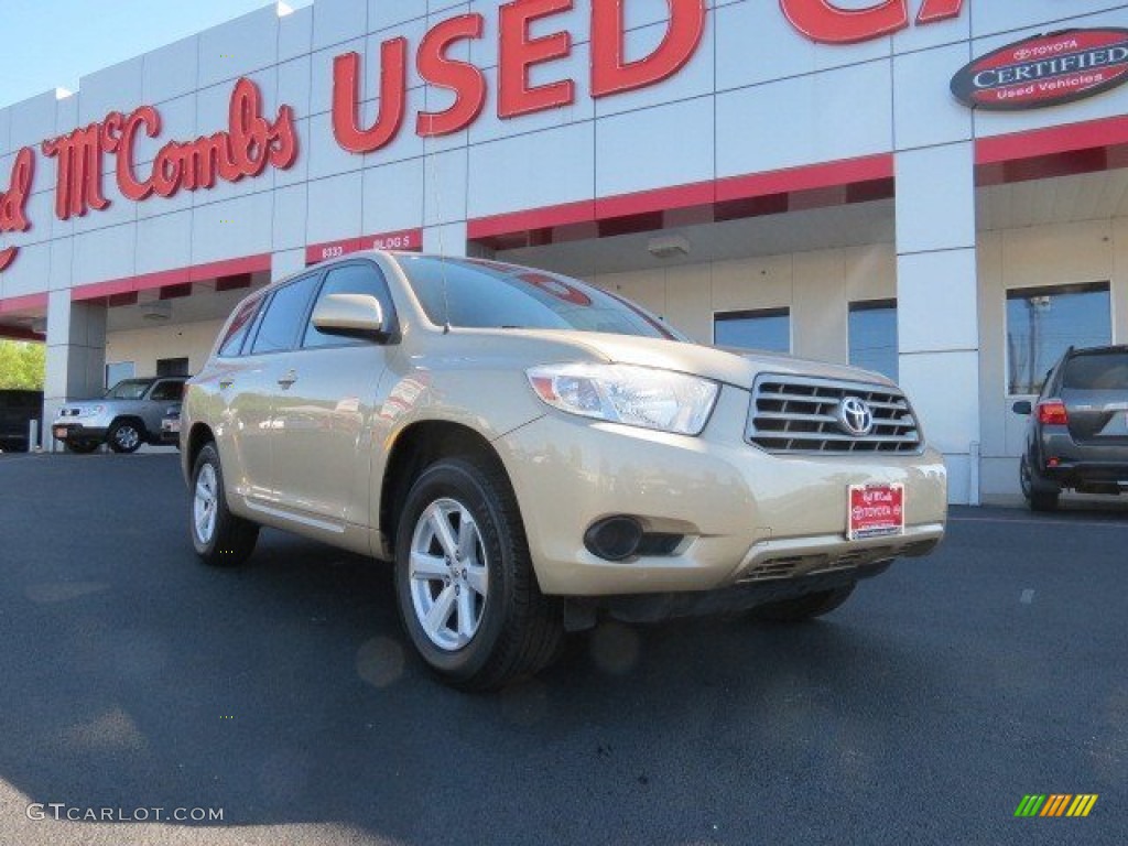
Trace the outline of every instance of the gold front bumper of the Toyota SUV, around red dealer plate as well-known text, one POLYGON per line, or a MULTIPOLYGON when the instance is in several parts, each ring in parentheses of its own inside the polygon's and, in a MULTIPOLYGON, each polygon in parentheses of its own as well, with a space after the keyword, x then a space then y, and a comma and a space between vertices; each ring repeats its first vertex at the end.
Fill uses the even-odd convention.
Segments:
POLYGON ((729 404, 722 397, 698 438, 549 414, 495 441, 545 593, 710 591, 832 573, 849 581, 943 537, 946 475, 934 450, 769 455, 743 442, 747 405, 729 404), (904 534, 848 540, 848 488, 874 483, 904 486, 904 534), (670 554, 606 561, 583 536, 617 514, 682 540, 670 554))

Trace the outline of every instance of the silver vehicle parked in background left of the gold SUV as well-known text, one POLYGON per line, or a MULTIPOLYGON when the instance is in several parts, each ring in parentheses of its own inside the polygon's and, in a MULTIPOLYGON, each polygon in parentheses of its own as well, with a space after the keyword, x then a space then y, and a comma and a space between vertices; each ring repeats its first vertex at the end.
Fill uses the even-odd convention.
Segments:
POLYGON ((71 452, 92 452, 104 441, 114 452, 160 444, 161 421, 180 406, 186 376, 123 379, 100 399, 68 403, 51 433, 71 452))

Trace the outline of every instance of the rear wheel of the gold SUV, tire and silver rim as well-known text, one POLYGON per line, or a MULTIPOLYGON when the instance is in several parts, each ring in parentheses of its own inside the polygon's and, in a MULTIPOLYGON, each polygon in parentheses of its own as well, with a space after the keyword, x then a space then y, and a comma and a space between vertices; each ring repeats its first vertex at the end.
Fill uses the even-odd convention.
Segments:
POLYGON ((209 443, 192 469, 192 545, 205 564, 233 567, 255 550, 258 526, 236 517, 227 506, 223 470, 215 444, 209 443))

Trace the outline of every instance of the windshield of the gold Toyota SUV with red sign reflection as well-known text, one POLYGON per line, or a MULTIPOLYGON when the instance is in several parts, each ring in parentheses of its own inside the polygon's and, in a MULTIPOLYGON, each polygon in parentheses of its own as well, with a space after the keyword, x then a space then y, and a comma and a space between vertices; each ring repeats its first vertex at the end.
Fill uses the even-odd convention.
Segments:
POLYGON ((572 329, 685 341, 662 320, 585 282, 476 258, 397 256, 431 323, 572 329))

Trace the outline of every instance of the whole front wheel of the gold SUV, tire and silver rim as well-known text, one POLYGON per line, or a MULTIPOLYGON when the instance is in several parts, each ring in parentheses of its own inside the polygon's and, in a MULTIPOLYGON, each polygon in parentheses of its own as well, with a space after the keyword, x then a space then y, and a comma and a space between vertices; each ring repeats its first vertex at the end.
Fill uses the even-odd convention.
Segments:
POLYGON ((465 690, 537 672, 564 633, 509 479, 485 462, 443 459, 415 481, 396 532, 396 599, 426 664, 465 690))

